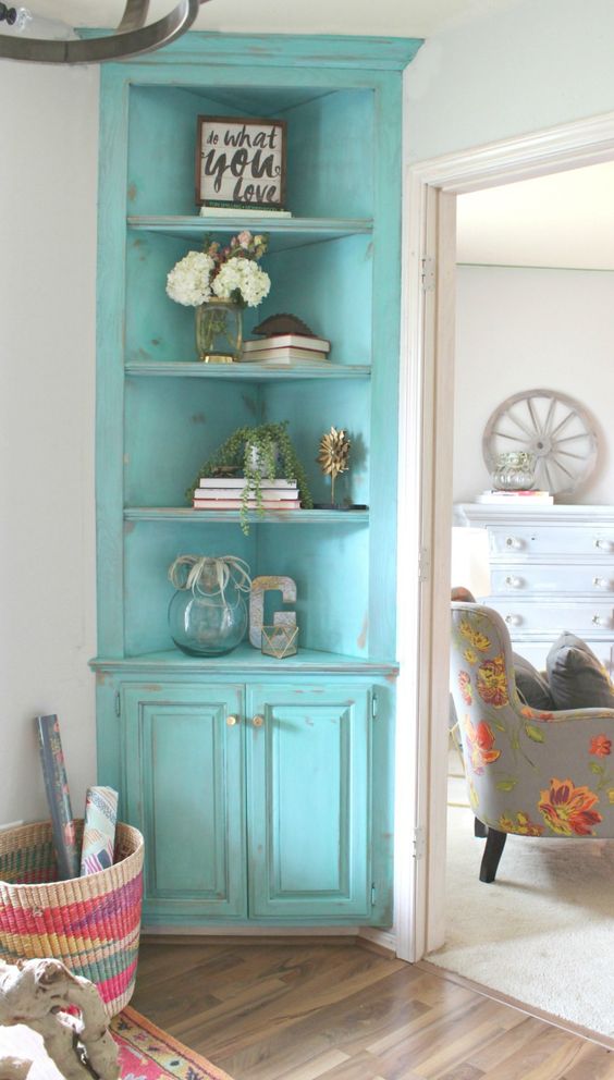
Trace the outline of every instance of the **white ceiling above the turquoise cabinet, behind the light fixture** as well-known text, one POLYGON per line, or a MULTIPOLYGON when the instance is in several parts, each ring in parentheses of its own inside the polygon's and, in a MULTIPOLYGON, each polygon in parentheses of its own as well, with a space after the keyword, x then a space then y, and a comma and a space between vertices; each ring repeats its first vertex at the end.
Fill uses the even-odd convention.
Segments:
MULTIPOLYGON (((208 0, 195 29, 254 34, 373 34, 429 37, 523 0, 208 0)), ((169 13, 175 0, 150 0, 148 22, 169 13)), ((37 15, 73 26, 116 26, 125 0, 32 0, 37 15)))

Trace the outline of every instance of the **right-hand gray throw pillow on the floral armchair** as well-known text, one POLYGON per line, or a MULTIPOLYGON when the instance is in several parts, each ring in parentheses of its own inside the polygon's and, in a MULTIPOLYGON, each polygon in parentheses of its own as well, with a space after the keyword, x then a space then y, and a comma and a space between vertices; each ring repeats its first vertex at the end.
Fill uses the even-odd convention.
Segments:
POLYGON ((586 641, 565 630, 545 660, 556 709, 614 709, 607 673, 586 641))

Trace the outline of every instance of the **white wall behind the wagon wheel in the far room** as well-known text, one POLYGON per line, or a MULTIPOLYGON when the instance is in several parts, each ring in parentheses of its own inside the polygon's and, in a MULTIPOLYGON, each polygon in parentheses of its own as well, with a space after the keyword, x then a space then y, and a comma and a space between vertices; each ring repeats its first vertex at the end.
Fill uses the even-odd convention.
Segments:
POLYGON ((458 267, 454 501, 490 487, 481 440, 512 394, 554 390, 591 415, 594 472, 574 502, 614 503, 614 272, 458 267))

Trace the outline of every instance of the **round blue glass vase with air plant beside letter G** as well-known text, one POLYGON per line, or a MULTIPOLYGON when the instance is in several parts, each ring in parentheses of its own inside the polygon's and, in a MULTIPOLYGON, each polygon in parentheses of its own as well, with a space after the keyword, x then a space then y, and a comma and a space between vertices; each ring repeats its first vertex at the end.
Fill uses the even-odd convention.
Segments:
POLYGON ((179 588, 169 604, 169 629, 183 652, 222 656, 241 645, 247 629, 249 577, 240 564, 241 560, 184 555, 171 566, 169 578, 179 588))

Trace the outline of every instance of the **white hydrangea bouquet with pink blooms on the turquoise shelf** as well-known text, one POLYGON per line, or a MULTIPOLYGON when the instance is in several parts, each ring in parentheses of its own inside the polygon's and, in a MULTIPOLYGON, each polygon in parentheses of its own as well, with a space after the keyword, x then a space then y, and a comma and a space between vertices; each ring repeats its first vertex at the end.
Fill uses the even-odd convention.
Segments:
POLYGON ((266 235, 245 230, 226 247, 205 241, 202 251, 188 251, 167 278, 167 293, 186 307, 198 307, 216 297, 240 307, 256 307, 271 287, 269 274, 258 266, 268 247, 266 235))

